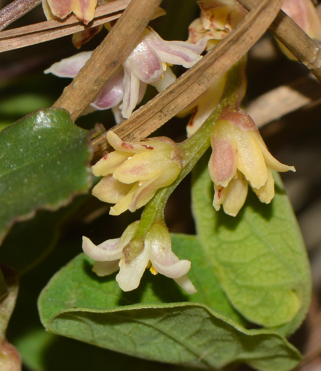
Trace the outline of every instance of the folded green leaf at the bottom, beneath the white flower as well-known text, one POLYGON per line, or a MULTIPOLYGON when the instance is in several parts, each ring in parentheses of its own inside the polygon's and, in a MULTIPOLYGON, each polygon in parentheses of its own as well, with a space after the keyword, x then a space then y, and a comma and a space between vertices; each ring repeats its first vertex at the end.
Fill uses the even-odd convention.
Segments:
POLYGON ((81 254, 43 289, 39 311, 50 332, 140 358, 205 369, 245 362, 258 370, 281 371, 300 360, 283 336, 246 330, 204 304, 186 302, 187 295, 164 276, 145 272, 139 288, 125 293, 115 274, 97 277, 91 269, 92 260, 81 254), (173 298, 182 302, 168 303, 173 298))

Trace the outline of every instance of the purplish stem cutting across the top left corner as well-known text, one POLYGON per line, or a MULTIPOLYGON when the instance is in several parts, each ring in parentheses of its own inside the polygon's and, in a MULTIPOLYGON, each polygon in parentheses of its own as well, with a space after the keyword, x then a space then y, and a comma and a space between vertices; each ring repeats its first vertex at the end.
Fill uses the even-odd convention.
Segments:
POLYGON ((41 3, 41 0, 14 0, 0 10, 0 30, 30 12, 41 3))

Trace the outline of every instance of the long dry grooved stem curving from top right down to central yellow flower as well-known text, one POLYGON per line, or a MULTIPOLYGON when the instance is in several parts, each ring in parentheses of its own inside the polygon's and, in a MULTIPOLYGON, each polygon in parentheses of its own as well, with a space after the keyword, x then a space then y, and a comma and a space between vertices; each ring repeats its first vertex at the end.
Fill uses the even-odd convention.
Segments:
MULTIPOLYGON (((236 29, 196 65, 183 73, 165 91, 133 112, 132 116, 112 130, 120 138, 137 141, 147 137, 222 76, 267 30, 278 13, 282 0, 259 0, 236 29)), ((94 161, 106 154, 106 133, 94 139, 94 161)))

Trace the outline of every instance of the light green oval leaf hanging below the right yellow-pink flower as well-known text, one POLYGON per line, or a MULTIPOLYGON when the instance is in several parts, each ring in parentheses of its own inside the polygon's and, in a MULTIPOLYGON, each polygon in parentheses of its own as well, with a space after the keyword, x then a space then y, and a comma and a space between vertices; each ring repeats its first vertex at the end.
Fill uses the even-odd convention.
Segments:
POLYGON ((205 256, 234 307, 257 324, 285 324, 278 331, 289 334, 307 312, 311 274, 291 204, 274 177, 270 204, 249 190, 244 207, 231 217, 212 207, 213 183, 203 157, 193 181, 193 213, 205 256))

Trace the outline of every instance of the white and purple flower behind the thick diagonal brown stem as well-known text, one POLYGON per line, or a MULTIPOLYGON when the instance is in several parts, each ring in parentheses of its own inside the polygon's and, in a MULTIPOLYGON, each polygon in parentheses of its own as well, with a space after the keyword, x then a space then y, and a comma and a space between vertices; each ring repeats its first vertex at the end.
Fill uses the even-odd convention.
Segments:
MULTIPOLYGON (((200 40, 196 45, 165 41, 153 29, 146 27, 136 47, 90 105, 95 109, 119 107, 122 116, 129 118, 142 100, 146 84, 155 86, 158 91, 166 89, 176 79, 167 63, 186 68, 193 66, 202 58, 200 54, 205 49, 206 40, 200 40)), ((44 72, 59 77, 75 77, 90 55, 91 52, 79 53, 54 63, 44 72)))

